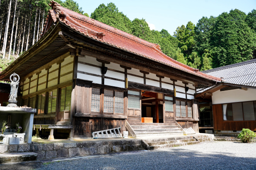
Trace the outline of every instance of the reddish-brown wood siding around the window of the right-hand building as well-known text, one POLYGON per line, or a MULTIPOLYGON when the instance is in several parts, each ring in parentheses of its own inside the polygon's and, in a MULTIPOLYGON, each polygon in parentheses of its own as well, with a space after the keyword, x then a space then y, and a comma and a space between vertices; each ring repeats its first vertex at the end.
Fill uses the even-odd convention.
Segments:
POLYGON ((224 121, 222 104, 212 105, 212 114, 214 130, 256 130, 256 121, 224 121))

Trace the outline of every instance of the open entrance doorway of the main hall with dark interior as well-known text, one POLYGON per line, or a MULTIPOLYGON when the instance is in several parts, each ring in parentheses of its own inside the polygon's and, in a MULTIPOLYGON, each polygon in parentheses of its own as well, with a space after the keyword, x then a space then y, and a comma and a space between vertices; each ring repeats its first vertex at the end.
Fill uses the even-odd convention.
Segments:
POLYGON ((163 123, 163 94, 142 91, 141 117, 151 117, 153 123, 163 123))

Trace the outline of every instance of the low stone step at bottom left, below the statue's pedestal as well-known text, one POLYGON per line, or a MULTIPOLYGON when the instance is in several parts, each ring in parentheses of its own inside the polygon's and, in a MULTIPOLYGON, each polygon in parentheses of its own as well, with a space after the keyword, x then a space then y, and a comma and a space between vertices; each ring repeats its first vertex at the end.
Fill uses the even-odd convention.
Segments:
POLYGON ((36 161, 37 153, 2 153, 0 154, 0 164, 23 162, 23 161, 36 161))

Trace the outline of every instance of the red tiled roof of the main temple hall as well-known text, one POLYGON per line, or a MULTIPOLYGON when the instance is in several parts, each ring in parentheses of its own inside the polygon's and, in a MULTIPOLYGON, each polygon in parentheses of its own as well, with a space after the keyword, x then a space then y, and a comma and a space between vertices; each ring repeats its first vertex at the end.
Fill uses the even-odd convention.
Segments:
MULTIPOLYGON (((122 50, 140 55, 141 57, 146 57, 148 59, 155 60, 165 65, 169 65, 173 68, 186 71, 199 77, 204 77, 213 81, 221 80, 217 77, 204 74, 198 71, 198 69, 184 65, 180 62, 177 62, 175 59, 166 56, 160 50, 160 46, 158 44, 147 42, 124 31, 108 26, 97 20, 93 20, 90 17, 78 14, 74 11, 60 6, 55 1, 50 2, 51 4, 49 5, 52 6, 52 9, 55 12, 56 22, 60 21, 62 23, 65 23, 70 28, 79 31, 85 36, 91 37, 102 43, 107 43, 116 48, 121 48, 122 50)), ((51 10, 50 14, 55 21, 52 15, 53 12, 51 10)))

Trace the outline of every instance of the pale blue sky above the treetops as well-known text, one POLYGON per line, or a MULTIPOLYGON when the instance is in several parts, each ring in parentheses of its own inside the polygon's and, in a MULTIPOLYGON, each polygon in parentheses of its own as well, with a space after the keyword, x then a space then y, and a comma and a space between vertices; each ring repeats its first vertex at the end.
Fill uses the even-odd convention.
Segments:
POLYGON ((130 20, 145 19, 151 29, 166 29, 171 35, 178 26, 191 21, 196 25, 203 16, 218 17, 222 12, 239 9, 245 14, 256 9, 256 0, 74 0, 87 14, 100 4, 112 2, 130 20))

